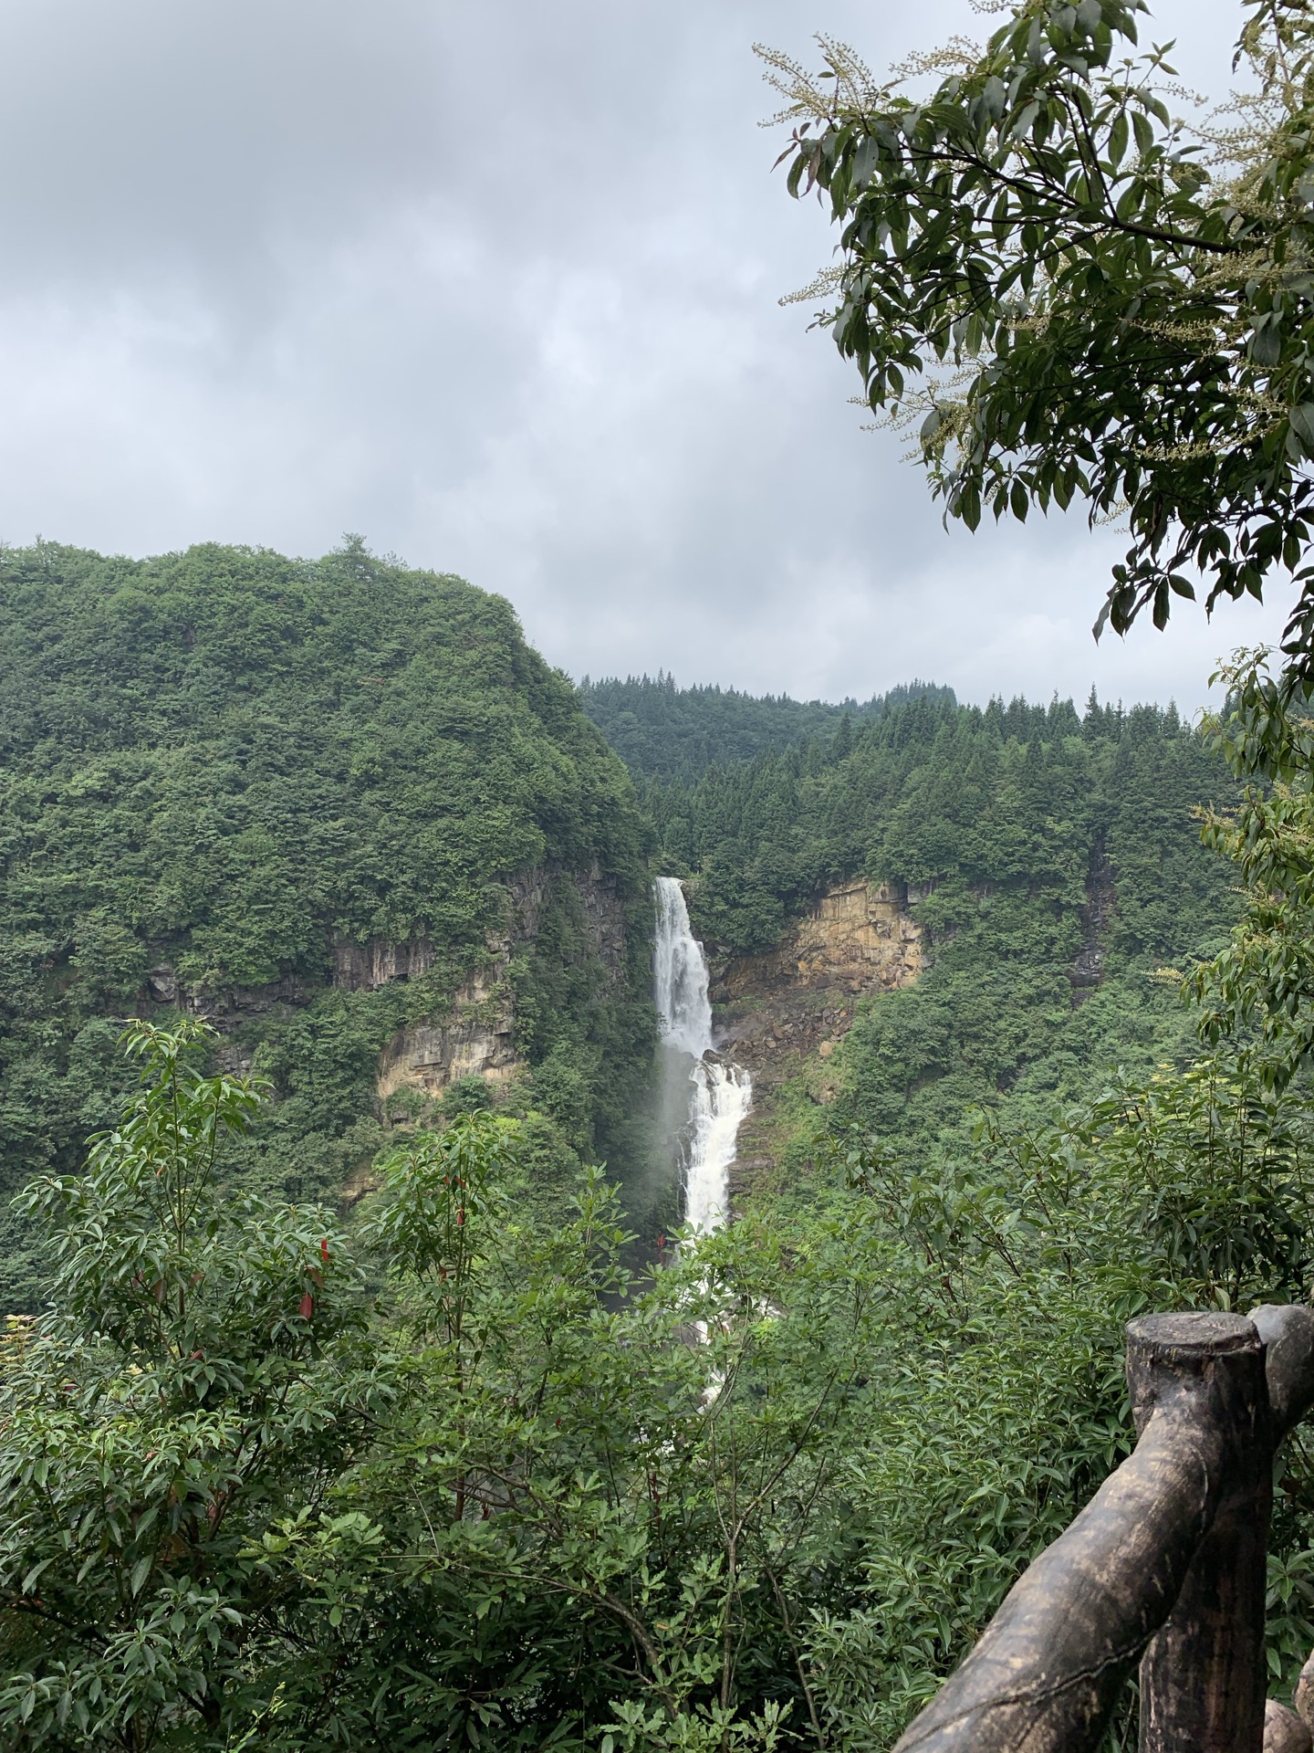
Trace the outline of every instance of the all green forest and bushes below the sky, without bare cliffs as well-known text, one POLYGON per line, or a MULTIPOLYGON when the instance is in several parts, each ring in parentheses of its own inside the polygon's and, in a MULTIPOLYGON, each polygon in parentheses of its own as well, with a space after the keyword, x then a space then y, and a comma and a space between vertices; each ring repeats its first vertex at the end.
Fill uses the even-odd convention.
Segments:
MULTIPOLYGON (((0 589, 5 1746, 881 1753, 1128 1451, 1127 1318, 1307 1294, 1303 1011, 1246 1008, 1307 789, 1240 731, 662 678, 627 773, 359 543, 0 589), (655 873, 720 969, 848 878, 923 962, 661 1264, 655 873), (480 976, 512 1075, 382 1092, 480 976)), ((1272 1544, 1289 1676, 1300 1451, 1272 1544)))

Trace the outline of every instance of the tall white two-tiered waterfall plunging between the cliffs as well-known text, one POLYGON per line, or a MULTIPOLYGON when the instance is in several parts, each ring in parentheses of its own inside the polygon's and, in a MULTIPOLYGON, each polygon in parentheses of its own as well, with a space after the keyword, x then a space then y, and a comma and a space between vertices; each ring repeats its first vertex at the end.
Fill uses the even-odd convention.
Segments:
POLYGON ((743 1066, 729 1064, 715 1052, 708 961, 689 927, 685 891, 675 876, 657 878, 655 903, 653 983, 662 1043, 694 1061, 689 1071, 685 1222, 704 1236, 725 1222, 734 1146, 753 1083, 743 1066))

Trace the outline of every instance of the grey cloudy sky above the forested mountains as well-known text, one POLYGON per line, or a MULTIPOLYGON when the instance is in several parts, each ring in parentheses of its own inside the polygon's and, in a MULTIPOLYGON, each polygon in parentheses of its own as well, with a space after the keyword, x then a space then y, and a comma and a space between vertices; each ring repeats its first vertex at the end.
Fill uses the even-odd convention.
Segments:
MULTIPOLYGON (((1162 0, 1197 88, 1239 7, 1162 0)), ((969 0, 0 0, 0 538, 321 554, 506 594, 573 675, 1204 698, 1281 601, 1097 649, 1079 517, 941 528, 780 307, 832 238, 752 56, 969 0)))

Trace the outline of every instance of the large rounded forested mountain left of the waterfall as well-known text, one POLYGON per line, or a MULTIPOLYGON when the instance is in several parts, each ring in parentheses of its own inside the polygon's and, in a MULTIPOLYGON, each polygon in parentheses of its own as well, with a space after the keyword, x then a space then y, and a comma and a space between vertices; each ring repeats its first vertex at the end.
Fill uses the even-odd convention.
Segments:
MULTIPOLYGON (((273 1080, 247 1182, 336 1192, 384 1138, 380 1054, 461 992, 468 1033, 512 1031, 552 1148, 617 1145, 652 1029, 648 831, 501 598, 359 542, 42 543, 0 556, 0 624, 5 1206, 109 1122, 119 1018, 179 1008, 273 1080)), ((32 1295, 14 1224, 0 1308, 32 1295)))

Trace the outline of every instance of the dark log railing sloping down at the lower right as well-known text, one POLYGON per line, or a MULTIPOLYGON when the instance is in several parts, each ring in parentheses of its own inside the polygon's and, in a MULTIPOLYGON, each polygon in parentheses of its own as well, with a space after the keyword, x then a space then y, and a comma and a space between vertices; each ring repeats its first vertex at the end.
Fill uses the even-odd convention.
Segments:
MULTIPOLYGON (((1265 1713, 1263 1599, 1274 1453, 1314 1402, 1314 1309, 1135 1320, 1127 1381, 1135 1451, 895 1753, 1095 1749, 1137 1662, 1141 1753, 1310 1753, 1300 1716, 1265 1713)), ((1298 1707, 1314 1658, 1307 1676, 1298 1707)))

